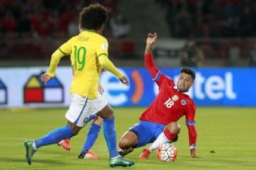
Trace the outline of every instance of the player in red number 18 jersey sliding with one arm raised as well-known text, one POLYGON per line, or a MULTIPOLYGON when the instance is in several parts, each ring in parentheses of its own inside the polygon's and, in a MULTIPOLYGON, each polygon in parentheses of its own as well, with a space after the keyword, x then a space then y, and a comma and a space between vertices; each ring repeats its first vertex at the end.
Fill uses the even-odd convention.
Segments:
POLYGON ((119 153, 124 156, 132 152, 134 148, 152 143, 139 156, 140 159, 147 159, 149 154, 161 144, 178 140, 178 132, 180 132, 181 127, 177 121, 185 116, 191 157, 196 158, 196 106, 192 99, 185 94, 193 86, 196 75, 192 69, 183 68, 175 85, 172 79, 162 74, 156 68, 152 55, 152 45, 154 45, 156 39, 156 33, 148 34, 144 59, 146 69, 149 70, 151 77, 159 86, 159 94, 146 108, 146 111, 142 113, 139 118, 140 122, 124 133, 119 141, 119 147, 121 148, 119 153))

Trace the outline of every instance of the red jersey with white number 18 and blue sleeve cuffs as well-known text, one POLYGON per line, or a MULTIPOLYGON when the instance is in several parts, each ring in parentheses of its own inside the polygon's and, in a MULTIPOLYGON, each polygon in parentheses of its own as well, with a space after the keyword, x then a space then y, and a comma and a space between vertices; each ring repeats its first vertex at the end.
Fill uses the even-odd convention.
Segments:
POLYGON ((174 87, 174 81, 161 74, 161 72, 158 72, 156 77, 153 78, 156 84, 159 85, 159 94, 149 108, 142 113, 139 120, 167 125, 176 122, 185 115, 186 124, 194 124, 196 106, 192 99, 178 91, 174 87))

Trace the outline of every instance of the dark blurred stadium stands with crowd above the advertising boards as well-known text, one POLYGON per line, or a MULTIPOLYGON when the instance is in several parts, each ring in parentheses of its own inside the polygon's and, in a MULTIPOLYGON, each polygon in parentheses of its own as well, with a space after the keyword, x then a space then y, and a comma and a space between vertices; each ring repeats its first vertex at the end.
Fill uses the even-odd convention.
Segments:
MULTIPOLYGON (((1 66, 46 63, 41 61, 48 60, 60 42, 78 33, 79 11, 82 6, 93 2, 95 1, 1 0, 1 66), (14 64, 14 60, 21 62, 14 64)), ((201 67, 212 66, 210 64, 213 63, 231 67, 256 66, 256 1, 97 2, 110 12, 110 21, 104 35, 110 41, 110 56, 119 65, 129 64, 128 59, 132 60, 132 66, 143 64, 143 50, 140 47, 144 45, 146 33, 154 30, 159 33, 159 38, 193 37, 204 55, 201 67), (157 17, 161 17, 161 21, 157 17), (158 24, 150 23, 154 18, 158 24), (167 31, 161 29, 161 26, 166 26, 167 31)))

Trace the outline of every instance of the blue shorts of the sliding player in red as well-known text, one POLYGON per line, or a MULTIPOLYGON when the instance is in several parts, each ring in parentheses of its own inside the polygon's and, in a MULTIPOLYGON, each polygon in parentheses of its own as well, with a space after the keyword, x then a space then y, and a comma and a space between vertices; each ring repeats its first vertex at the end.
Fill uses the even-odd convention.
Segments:
MULTIPOLYGON (((134 148, 142 147, 154 142, 161 132, 163 132, 165 126, 166 125, 147 121, 141 121, 140 123, 133 125, 131 128, 129 128, 129 131, 136 133, 138 137, 138 143, 136 146, 134 146, 134 148)), ((178 136, 173 142, 176 142, 177 140, 178 136)))

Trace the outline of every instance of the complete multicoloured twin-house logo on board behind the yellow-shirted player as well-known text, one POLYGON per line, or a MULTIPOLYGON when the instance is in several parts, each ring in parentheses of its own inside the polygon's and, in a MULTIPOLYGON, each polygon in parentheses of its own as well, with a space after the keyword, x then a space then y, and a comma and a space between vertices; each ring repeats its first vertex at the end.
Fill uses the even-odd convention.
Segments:
POLYGON ((24 103, 63 103, 64 89, 57 77, 47 84, 41 81, 40 75, 32 75, 23 86, 24 103))

